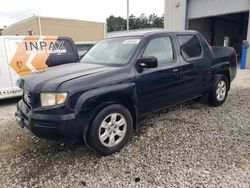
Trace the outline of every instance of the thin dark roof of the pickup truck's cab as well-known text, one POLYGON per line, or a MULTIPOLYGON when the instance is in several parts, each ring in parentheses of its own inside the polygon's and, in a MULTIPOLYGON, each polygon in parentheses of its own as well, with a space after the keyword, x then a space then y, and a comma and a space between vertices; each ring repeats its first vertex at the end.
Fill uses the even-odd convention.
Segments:
POLYGON ((150 35, 155 35, 155 34, 196 34, 197 31, 193 30, 185 30, 185 31, 159 31, 159 30, 149 30, 149 31, 135 31, 135 32, 128 32, 128 33, 122 33, 122 34, 117 34, 116 36, 110 36, 107 38, 118 38, 118 37, 146 37, 150 35))

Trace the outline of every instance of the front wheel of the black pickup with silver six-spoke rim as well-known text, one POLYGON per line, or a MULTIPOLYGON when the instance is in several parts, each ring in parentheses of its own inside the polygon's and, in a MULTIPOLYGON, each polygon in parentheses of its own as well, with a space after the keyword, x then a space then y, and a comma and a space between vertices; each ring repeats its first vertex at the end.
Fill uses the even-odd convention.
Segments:
POLYGON ((129 110, 119 104, 102 109, 94 118, 86 135, 87 146, 101 155, 120 151, 129 141, 133 119, 129 110))

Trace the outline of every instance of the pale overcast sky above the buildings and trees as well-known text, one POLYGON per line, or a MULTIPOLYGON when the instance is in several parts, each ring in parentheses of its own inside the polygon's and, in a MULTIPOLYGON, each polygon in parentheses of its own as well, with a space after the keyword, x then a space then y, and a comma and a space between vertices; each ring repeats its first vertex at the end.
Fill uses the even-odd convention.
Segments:
MULTIPOLYGON (((49 16, 105 22, 110 15, 127 15, 127 0, 6 0, 0 6, 0 28, 31 17, 49 16)), ((164 13, 164 0, 130 0, 130 14, 164 13)))

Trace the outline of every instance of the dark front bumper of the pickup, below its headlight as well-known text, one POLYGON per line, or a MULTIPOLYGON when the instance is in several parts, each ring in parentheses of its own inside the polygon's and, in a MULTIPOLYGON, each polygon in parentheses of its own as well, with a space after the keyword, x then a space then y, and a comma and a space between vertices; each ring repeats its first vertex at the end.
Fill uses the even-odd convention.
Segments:
POLYGON ((49 140, 75 139, 81 136, 82 126, 74 113, 55 115, 34 112, 23 100, 17 104, 16 120, 36 136, 49 140))

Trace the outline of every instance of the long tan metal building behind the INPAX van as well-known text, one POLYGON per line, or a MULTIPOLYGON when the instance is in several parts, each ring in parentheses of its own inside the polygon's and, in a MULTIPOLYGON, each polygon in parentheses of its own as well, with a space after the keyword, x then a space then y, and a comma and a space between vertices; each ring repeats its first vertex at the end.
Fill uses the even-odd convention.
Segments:
POLYGON ((106 23, 33 16, 6 27, 3 35, 59 35, 74 41, 98 41, 106 37, 106 23))

